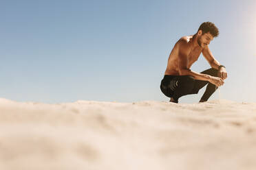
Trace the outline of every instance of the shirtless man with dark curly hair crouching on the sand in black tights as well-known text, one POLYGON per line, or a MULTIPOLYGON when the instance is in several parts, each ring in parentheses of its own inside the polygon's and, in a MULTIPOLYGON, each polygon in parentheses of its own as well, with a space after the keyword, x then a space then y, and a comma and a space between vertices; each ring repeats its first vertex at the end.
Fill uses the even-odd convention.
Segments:
POLYGON ((176 42, 160 85, 162 93, 171 97, 171 102, 178 103, 178 99, 184 95, 198 94, 206 84, 200 102, 207 101, 217 87, 224 84, 227 77, 226 68, 215 60, 209 49, 211 40, 218 35, 219 30, 214 23, 205 22, 200 25, 196 34, 184 36, 176 42), (211 69, 201 73, 191 71, 191 65, 198 60, 201 53, 211 65, 211 69))

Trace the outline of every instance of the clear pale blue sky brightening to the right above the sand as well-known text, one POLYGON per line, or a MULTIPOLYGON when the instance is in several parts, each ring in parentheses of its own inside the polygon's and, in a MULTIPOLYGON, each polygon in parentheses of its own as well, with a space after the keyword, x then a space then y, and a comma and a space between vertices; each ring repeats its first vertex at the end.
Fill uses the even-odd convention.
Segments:
MULTIPOLYGON (((169 53, 211 21, 209 45, 228 78, 209 100, 256 102, 256 2, 0 2, 0 98, 49 104, 169 101, 160 91, 169 53)), ((211 66, 201 55, 191 67, 211 66)), ((180 103, 196 103, 204 93, 180 103)))

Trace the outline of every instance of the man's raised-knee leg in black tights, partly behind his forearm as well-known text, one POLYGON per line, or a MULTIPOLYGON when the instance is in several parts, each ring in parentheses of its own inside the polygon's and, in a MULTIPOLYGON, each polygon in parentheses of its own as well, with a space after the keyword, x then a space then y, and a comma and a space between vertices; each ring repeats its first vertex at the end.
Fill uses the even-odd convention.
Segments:
MULTIPOLYGON (((217 70, 213 69, 213 68, 207 69, 205 71, 202 71, 201 73, 217 77, 217 70)), ((208 84, 208 85, 206 87, 204 95, 202 95, 202 98, 200 99, 200 102, 207 101, 211 97, 211 95, 215 92, 215 90, 217 90, 217 86, 215 86, 214 84, 211 84, 208 81, 195 80, 195 86, 194 86, 194 88, 192 90, 192 93, 193 94, 197 94, 198 91, 201 88, 203 88, 206 84, 208 84)))

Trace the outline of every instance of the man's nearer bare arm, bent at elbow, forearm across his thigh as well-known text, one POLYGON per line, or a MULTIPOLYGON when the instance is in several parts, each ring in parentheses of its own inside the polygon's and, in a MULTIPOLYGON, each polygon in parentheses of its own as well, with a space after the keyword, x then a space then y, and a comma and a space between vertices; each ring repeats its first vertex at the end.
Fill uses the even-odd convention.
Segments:
POLYGON ((186 42, 180 42, 179 52, 178 52, 178 71, 180 75, 191 75, 194 77, 195 80, 204 80, 209 81, 216 86, 221 86, 224 82, 219 77, 213 77, 211 75, 206 75, 202 73, 197 73, 195 71, 191 71, 189 69, 188 64, 188 55, 190 52, 190 47, 187 45, 186 42))

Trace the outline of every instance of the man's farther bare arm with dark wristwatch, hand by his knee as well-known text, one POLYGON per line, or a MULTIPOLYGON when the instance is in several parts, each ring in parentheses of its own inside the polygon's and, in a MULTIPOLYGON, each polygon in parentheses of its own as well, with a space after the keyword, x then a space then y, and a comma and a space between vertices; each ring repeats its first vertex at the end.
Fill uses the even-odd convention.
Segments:
POLYGON ((225 67, 220 68, 220 62, 215 60, 215 58, 213 57, 213 53, 211 53, 211 50, 209 49, 208 45, 202 50, 202 54, 204 58, 206 58, 206 60, 209 62, 211 67, 219 71, 219 77, 221 77, 223 80, 226 79, 226 77, 228 77, 225 67))

